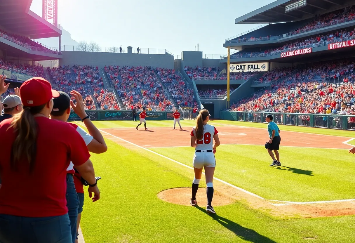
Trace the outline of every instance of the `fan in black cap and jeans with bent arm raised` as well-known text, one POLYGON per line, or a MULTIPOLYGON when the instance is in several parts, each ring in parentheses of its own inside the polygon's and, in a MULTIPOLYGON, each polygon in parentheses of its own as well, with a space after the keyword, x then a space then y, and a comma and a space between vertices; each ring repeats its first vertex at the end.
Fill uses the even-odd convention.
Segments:
MULTIPOLYGON (((53 110, 50 113, 51 119, 60 120, 66 122, 70 116, 70 106, 73 108, 74 112, 82 119, 83 123, 86 125, 86 128, 89 131, 89 134, 86 133, 84 129, 74 123, 69 123, 84 139, 88 150, 93 153, 103 153, 107 151, 107 146, 105 140, 100 133, 100 131, 95 127, 91 122, 90 118, 85 112, 84 101, 81 94, 75 90, 71 91, 70 94, 75 97, 76 105, 70 100, 70 97, 67 93, 59 91, 59 96, 53 99, 53 110), (72 104, 71 104, 72 103, 72 104)), ((74 184, 76 177, 73 177, 75 170, 73 169, 74 165, 70 162, 69 167, 67 168, 67 192, 66 200, 68 207, 68 214, 70 218, 70 227, 72 231, 73 243, 75 238, 77 238, 77 228, 79 227, 81 211, 84 203, 84 189, 81 183, 80 188, 76 188, 74 184), (78 193, 78 194, 77 194, 78 193), (78 210, 79 209, 79 210, 78 210)), ((78 175, 80 176, 80 175, 78 175)))

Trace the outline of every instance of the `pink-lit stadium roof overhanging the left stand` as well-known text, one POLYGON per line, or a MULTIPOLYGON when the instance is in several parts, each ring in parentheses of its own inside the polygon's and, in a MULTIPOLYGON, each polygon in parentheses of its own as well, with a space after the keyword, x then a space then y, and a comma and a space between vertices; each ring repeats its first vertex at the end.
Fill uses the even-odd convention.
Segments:
POLYGON ((31 39, 58 37, 62 31, 31 10, 32 0, 0 0, 0 26, 31 39))

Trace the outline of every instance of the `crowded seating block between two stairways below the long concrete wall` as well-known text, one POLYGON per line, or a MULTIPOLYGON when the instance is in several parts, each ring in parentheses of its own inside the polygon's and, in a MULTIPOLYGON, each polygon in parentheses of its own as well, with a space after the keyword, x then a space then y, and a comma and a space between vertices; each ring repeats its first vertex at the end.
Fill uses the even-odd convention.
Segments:
POLYGON ((150 66, 105 66, 105 72, 126 109, 173 109, 150 66))

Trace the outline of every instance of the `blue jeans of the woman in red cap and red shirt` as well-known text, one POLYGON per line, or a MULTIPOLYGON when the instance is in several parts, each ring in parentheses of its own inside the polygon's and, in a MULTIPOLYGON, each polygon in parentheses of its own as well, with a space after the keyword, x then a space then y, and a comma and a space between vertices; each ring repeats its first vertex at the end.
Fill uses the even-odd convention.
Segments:
POLYGON ((0 214, 0 243, 70 243, 68 214, 54 217, 20 217, 0 214))

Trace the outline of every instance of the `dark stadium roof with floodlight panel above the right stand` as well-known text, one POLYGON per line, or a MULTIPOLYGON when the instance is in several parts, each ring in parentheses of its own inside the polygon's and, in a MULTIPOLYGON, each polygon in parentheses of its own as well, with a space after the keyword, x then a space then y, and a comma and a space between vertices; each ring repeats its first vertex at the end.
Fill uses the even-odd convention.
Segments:
POLYGON ((295 0, 277 0, 235 19, 235 23, 279 23, 305 20, 355 4, 355 0, 307 0, 307 6, 285 13, 285 6, 295 0))

